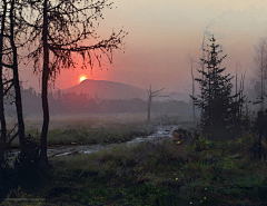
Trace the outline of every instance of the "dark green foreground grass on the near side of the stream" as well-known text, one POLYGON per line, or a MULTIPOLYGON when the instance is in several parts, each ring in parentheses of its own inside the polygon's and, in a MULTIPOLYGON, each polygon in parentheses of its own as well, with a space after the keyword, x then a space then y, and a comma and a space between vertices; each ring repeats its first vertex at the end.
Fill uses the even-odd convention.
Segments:
POLYGON ((222 143, 200 137, 208 150, 166 139, 55 157, 49 178, 22 188, 22 196, 43 197, 47 205, 264 205, 267 164, 251 158, 254 139, 251 134, 222 143))

